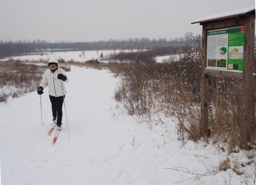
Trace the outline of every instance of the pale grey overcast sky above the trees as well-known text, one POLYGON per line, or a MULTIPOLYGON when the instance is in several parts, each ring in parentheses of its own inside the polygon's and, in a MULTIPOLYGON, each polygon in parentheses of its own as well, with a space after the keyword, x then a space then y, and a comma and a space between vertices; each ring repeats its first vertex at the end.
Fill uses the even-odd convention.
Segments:
POLYGON ((0 40, 98 41, 202 33, 195 19, 255 0, 0 0, 0 40))

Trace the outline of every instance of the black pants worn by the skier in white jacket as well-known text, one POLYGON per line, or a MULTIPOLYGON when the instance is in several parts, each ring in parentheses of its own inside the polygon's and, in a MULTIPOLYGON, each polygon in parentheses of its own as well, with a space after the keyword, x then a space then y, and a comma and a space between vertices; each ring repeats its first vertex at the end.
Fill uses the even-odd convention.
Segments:
POLYGON ((63 105, 65 96, 55 97, 55 96, 49 95, 49 97, 51 101, 51 110, 53 111, 53 117, 57 117, 57 125, 61 125, 62 105, 63 105))

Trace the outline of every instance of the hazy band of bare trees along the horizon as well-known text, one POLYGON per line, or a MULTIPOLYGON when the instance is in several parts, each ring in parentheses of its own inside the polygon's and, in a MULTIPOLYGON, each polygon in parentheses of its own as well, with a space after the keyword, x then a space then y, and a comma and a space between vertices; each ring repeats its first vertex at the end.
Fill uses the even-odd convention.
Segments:
POLYGON ((91 42, 59 42, 51 43, 45 40, 18 40, 3 41, 0 40, 0 58, 20 56, 20 55, 38 55, 57 51, 75 51, 75 50, 115 50, 115 49, 154 49, 167 46, 181 46, 184 43, 191 42, 193 33, 188 32, 184 37, 176 37, 167 40, 159 37, 158 40, 146 37, 130 38, 128 40, 91 41, 91 42))

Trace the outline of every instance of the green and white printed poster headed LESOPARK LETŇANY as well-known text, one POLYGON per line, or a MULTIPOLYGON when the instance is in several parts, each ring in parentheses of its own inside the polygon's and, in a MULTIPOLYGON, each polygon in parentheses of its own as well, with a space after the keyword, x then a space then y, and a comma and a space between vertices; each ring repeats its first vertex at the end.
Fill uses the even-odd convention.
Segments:
POLYGON ((244 27, 207 32, 207 67, 241 72, 244 65, 244 27))

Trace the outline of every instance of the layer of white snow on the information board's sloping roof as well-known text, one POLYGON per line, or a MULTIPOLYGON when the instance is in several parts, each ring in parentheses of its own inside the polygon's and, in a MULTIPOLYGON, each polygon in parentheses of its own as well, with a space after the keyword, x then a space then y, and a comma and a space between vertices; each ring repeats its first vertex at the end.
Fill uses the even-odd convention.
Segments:
POLYGON ((217 19, 224 19, 224 18, 229 18, 234 16, 245 15, 253 11, 255 11, 255 6, 247 7, 239 10, 233 10, 231 12, 225 12, 225 13, 219 13, 216 15, 206 16, 206 17, 194 20, 193 22, 191 22, 191 24, 200 23, 200 22, 209 22, 217 19))

